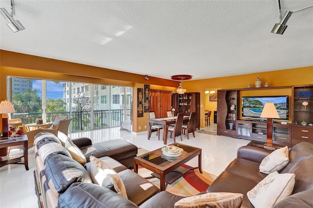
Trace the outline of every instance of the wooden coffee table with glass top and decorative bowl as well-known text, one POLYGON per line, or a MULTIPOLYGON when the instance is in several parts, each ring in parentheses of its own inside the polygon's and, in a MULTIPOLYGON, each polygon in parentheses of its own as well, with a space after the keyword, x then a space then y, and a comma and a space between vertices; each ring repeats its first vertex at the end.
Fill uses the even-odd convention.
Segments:
POLYGON ((159 148, 134 158, 134 172, 138 173, 138 166, 151 170, 153 172, 152 175, 160 179, 161 191, 165 190, 166 183, 171 184, 191 169, 199 169, 199 172, 202 173, 201 148, 179 143, 171 145, 182 148, 181 155, 178 157, 168 157, 163 155, 161 148, 159 148), (190 169, 180 167, 196 156, 198 156, 198 167, 190 169))

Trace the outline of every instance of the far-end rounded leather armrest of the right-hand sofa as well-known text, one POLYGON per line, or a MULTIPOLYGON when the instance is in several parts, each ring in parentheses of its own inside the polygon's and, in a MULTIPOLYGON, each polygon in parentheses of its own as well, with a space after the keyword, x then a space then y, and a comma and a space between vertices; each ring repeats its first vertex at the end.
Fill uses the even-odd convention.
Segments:
POLYGON ((268 156, 271 151, 254 146, 242 146, 237 151, 237 158, 250 160, 261 163, 262 160, 268 156))

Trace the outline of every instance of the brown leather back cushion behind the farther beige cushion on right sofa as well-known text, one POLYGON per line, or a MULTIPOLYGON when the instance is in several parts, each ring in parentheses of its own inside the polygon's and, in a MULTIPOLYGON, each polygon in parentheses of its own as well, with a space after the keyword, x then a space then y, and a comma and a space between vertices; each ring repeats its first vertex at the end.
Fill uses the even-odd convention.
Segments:
POLYGON ((289 163, 279 173, 289 173, 290 169, 300 160, 313 155, 313 144, 301 142, 292 146, 289 151, 289 163))

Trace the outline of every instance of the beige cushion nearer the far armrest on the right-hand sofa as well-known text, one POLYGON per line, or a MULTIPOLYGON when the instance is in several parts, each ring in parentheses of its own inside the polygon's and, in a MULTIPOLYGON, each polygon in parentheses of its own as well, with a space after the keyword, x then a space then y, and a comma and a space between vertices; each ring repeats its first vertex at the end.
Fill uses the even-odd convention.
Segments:
POLYGON ((274 171, 283 169, 289 163, 289 148, 288 146, 276 149, 266 156, 260 166, 260 172, 269 174, 274 171))

